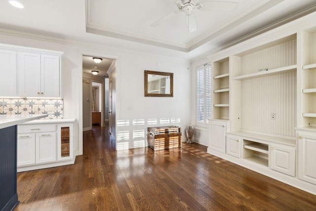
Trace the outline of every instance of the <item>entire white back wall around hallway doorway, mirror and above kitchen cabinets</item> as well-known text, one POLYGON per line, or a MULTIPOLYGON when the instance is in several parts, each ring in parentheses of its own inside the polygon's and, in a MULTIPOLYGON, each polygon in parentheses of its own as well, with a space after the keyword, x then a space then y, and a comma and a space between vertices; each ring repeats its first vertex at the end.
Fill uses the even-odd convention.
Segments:
MULTIPOLYGON (((177 125, 183 128, 190 122, 190 71, 187 61, 152 54, 124 52, 118 49, 28 39, 0 34, 1 43, 59 50, 63 56, 64 118, 78 120, 78 152, 82 154, 82 55, 117 59, 116 119, 129 124, 117 127, 117 144, 122 148, 144 147, 149 126, 177 125), (161 66, 158 67, 157 63, 161 66), (144 70, 174 73, 174 97, 144 97, 144 70), (132 110, 127 110, 132 106, 132 110), (149 125, 148 120, 157 119, 149 125), (135 124, 135 121, 137 122, 135 124), (164 120, 166 123, 160 123, 164 120), (128 134, 127 136, 121 136, 128 134)), ((157 47, 156 47, 157 48, 157 47)), ((135 48, 137 49, 137 48, 135 48)), ((77 126, 75 126, 77 128, 77 126)), ((183 133, 183 135, 185 135, 183 133)), ((77 144, 75 144, 77 146, 77 144)))

